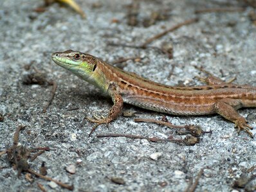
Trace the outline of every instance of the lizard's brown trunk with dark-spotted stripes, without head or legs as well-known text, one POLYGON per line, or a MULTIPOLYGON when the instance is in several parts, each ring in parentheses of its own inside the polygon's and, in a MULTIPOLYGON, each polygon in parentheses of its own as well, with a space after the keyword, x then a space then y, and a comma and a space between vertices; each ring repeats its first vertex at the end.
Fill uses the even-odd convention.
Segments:
POLYGON ((196 87, 167 86, 144 79, 137 74, 124 72, 104 61, 105 77, 118 83, 118 92, 124 102, 140 108, 174 115, 208 115, 215 113, 217 100, 241 99, 244 106, 256 106, 256 88, 248 85, 214 84, 196 87), (248 106, 248 105, 247 105, 248 106))

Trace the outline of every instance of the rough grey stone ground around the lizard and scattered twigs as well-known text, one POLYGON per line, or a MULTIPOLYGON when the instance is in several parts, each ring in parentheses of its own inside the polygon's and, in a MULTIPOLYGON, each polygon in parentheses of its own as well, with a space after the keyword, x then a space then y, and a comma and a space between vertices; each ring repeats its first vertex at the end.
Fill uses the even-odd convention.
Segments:
MULTIPOLYGON (((90 138, 92 124, 80 127, 82 118, 93 112, 107 113, 111 99, 105 99, 92 85, 78 79, 51 61, 51 52, 67 49, 89 52, 112 62, 118 58, 141 56, 139 62, 127 61, 125 70, 136 72, 160 83, 174 85, 200 84, 194 76, 202 76, 192 65, 202 65, 206 70, 224 80, 237 76, 236 83, 256 85, 256 27, 248 17, 253 10, 244 12, 205 13, 198 15, 199 22, 163 36, 151 45, 160 47, 171 42, 174 58, 155 49, 131 49, 111 47, 107 42, 140 45, 147 38, 170 28, 183 20, 196 17, 194 10, 205 7, 241 6, 237 1, 141 1, 139 26, 127 25, 127 4, 131 1, 78 1, 87 14, 87 20, 70 8, 53 4, 46 12, 33 9, 42 1, 2 0, 0 2, 0 112, 5 116, 0 122, 1 150, 12 145, 17 125, 26 125, 21 132, 20 143, 26 147, 50 147, 31 164, 38 171, 42 161, 48 167, 48 176, 73 184, 74 191, 184 191, 189 180, 205 168, 196 191, 235 191, 234 180, 251 173, 248 168, 256 165, 256 140, 241 132, 238 136, 233 124, 219 115, 171 116, 173 124, 197 124, 204 131, 201 141, 194 146, 175 143, 151 143, 147 140, 127 138, 96 138, 96 134, 125 133, 142 136, 180 138, 175 131, 161 125, 135 123, 133 118, 120 116, 109 127, 102 125, 90 138), (169 19, 157 22, 149 28, 142 20, 152 11, 168 10, 169 19), (111 22, 118 19, 120 22, 111 22), (47 113, 42 108, 50 98, 51 86, 24 85, 23 75, 30 73, 24 66, 33 66, 46 72, 48 79, 57 84, 55 98, 47 113), (172 65, 174 75, 169 79, 172 65), (223 70, 221 76, 220 70, 223 70), (79 108, 68 111, 70 108, 79 108), (157 161, 151 154, 161 153, 157 161), (80 162, 80 163, 78 163, 80 162), (66 172, 70 164, 76 165, 75 174, 66 172), (121 177, 125 184, 118 185, 111 177, 121 177), (161 182, 167 186, 161 187, 161 182)), ((162 114, 134 108, 140 118, 160 119, 162 114)), ((255 109, 241 109, 250 125, 256 127, 255 109)), ((256 129, 252 132, 256 134, 256 129)), ((255 171, 254 171, 255 172, 255 171)), ((255 174, 255 173, 254 173, 255 174)), ((0 158, 0 191, 39 191, 40 182, 47 191, 68 191, 49 182, 35 178, 30 183, 24 174, 9 166, 5 156, 0 158), (54 188, 55 187, 55 188, 54 188)), ((246 189, 255 189, 256 180, 246 189)), ((244 189, 239 189, 244 191, 244 189)))

